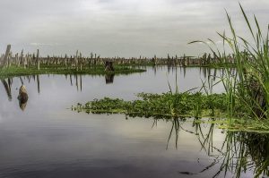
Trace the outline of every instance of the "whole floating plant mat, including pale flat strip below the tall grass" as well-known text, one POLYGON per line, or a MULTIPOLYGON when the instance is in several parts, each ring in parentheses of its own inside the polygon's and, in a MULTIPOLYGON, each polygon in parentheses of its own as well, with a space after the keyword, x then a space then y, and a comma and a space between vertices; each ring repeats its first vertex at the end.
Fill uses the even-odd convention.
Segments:
POLYGON ((171 118, 200 118, 196 122, 210 122, 201 118, 216 118, 215 123, 220 123, 222 129, 231 131, 269 131, 269 123, 263 120, 246 118, 247 109, 236 102, 236 115, 229 118, 228 102, 226 94, 206 95, 196 93, 139 93, 138 99, 126 101, 119 98, 104 97, 94 99, 82 105, 78 103, 72 106, 76 112, 88 114, 126 114, 131 117, 153 117, 155 119, 171 118), (223 118, 226 118, 223 120, 223 118))

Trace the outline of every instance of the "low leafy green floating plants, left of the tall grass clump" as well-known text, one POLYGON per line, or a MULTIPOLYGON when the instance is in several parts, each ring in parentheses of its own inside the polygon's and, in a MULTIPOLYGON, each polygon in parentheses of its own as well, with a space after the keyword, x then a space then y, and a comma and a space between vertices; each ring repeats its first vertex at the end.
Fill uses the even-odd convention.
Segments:
POLYGON ((134 101, 104 97, 85 105, 77 104, 73 110, 93 114, 127 114, 141 117, 223 117, 227 99, 225 94, 140 93, 134 101))

